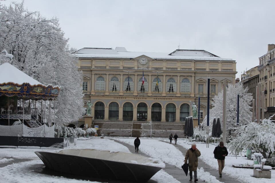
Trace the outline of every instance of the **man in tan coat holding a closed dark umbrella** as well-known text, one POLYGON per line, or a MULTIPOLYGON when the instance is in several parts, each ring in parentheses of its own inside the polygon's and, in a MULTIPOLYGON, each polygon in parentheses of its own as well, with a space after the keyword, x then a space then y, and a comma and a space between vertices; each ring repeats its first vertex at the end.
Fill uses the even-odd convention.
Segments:
POLYGON ((191 148, 187 150, 185 155, 184 163, 187 163, 189 166, 189 175, 190 181, 192 181, 192 171, 194 172, 195 182, 198 181, 197 179, 197 168, 198 168, 198 157, 201 156, 201 152, 197 149, 196 144, 192 144, 191 148))

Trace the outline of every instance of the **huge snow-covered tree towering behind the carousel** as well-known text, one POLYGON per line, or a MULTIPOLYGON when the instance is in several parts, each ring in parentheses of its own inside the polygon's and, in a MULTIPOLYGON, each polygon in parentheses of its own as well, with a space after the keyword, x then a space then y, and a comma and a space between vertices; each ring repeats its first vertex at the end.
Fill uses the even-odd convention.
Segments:
POLYGON ((30 12, 23 2, 9 7, 0 3, 0 50, 13 55, 9 60, 0 52, 0 64, 9 62, 45 85, 61 86, 56 101, 57 128, 78 120, 85 110, 81 72, 67 42, 57 18, 30 12))

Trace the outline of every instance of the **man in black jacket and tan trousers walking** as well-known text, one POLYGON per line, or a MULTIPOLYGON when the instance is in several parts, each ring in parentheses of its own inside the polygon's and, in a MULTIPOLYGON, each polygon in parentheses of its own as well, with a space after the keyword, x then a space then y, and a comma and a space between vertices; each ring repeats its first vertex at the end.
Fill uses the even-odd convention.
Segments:
POLYGON ((213 153, 214 153, 214 157, 218 160, 219 174, 221 177, 221 172, 223 171, 223 168, 224 168, 225 156, 228 155, 227 148, 223 146, 223 142, 220 142, 219 146, 215 148, 213 153))

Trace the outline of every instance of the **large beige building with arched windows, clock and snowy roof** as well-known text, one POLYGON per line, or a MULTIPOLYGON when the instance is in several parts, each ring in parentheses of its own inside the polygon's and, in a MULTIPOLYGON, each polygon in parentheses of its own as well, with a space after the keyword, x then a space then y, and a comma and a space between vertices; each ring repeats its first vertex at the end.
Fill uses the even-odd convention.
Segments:
POLYGON ((237 73, 235 60, 205 50, 82 48, 73 54, 83 72, 84 100, 93 104, 95 120, 182 122, 192 116, 192 104, 198 105, 199 97, 199 116, 204 118, 207 78, 213 97, 223 83, 234 83, 237 73))

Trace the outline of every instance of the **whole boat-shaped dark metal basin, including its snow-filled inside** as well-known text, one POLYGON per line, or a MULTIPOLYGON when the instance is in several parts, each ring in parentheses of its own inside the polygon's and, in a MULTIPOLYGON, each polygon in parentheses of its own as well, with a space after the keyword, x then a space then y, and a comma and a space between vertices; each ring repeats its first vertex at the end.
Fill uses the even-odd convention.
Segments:
POLYGON ((160 167, 131 163, 133 161, 138 162, 136 160, 141 160, 141 158, 143 158, 141 160, 142 163, 153 163, 149 158, 131 153, 97 151, 95 154, 92 151, 96 150, 84 150, 87 152, 80 152, 83 150, 73 149, 68 149, 68 151, 35 153, 43 161, 46 168, 94 179, 147 182, 154 174, 161 170, 160 167), (108 154, 109 157, 107 157, 108 154), (129 158, 129 155, 125 156, 125 154, 130 154, 132 158, 129 158), (95 158, 91 158, 91 156, 95 158), (118 157, 121 160, 117 161, 118 157))

